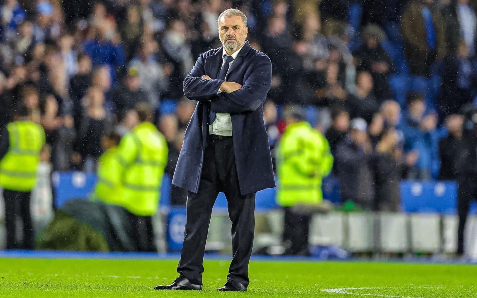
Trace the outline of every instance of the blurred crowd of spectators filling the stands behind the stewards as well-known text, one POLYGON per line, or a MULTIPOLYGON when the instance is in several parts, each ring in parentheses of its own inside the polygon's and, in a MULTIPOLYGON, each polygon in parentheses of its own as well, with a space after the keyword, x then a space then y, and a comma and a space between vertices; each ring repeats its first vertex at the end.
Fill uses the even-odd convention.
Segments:
POLYGON ((54 170, 94 172, 102 137, 128 132, 133 107, 147 102, 172 175, 195 108, 182 81, 221 46, 217 18, 230 7, 272 60, 271 148, 286 107, 306 107, 330 143, 343 201, 398 210, 401 179, 471 171, 455 154, 470 150, 456 140, 477 123, 473 0, 3 0, 0 127, 22 101, 46 131, 54 170))

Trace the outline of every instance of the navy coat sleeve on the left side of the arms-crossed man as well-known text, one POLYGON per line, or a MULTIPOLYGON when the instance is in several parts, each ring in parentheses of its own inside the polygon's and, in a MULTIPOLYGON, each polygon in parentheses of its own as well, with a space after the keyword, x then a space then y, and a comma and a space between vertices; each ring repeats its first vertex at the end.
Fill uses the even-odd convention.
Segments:
POLYGON ((204 62, 204 55, 200 54, 191 72, 186 75, 182 83, 184 95, 190 100, 209 101, 211 97, 217 96, 220 85, 224 82, 222 79, 203 79, 204 62))

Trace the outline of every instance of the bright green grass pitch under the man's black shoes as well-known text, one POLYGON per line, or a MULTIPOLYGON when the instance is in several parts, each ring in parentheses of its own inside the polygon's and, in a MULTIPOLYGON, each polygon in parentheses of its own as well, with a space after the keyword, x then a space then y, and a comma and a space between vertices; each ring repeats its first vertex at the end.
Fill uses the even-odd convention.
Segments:
POLYGON ((218 293, 228 261, 205 261, 203 291, 156 291, 177 261, 0 258, 0 297, 477 298, 477 266, 252 261, 245 293, 218 293), (326 290, 326 291, 324 291, 326 290))

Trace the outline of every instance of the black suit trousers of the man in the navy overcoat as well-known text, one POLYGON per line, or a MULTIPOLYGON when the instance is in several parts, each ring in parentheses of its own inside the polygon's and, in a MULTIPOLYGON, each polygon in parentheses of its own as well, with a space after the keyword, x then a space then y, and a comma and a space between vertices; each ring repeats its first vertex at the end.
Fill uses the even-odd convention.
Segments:
POLYGON ((232 221, 232 262, 227 279, 247 287, 255 227, 255 193, 240 194, 232 137, 208 137, 198 192, 189 192, 187 196, 186 230, 177 272, 191 283, 202 285, 205 242, 219 192, 225 193, 232 221))

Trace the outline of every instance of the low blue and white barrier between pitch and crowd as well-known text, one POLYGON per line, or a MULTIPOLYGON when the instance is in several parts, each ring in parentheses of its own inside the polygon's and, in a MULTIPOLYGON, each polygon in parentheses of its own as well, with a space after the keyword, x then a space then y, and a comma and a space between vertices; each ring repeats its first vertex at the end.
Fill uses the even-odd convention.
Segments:
MULTIPOLYGON (((50 169, 39 171, 33 191, 32 212, 36 230, 52 218, 50 169)), ((52 175, 55 207, 76 198, 88 198, 95 185, 95 174, 59 172, 52 175)), ((324 196, 339 202, 336 179, 323 183, 324 196)), ((184 235, 185 208, 170 206, 170 177, 162 185, 160 211, 153 219, 160 252, 180 251, 184 235)), ((453 253, 456 250, 457 186, 455 182, 403 181, 400 184, 401 213, 332 212, 315 215, 310 226, 310 243, 335 245, 353 253, 453 253)), ((281 245, 283 213, 275 203, 275 190, 257 194, 255 252, 281 245)), ((4 248, 3 200, 0 200, 0 249, 4 248)), ((475 210, 475 206, 472 208, 475 210)), ((474 211, 471 211, 474 212, 474 211)), ((214 205, 206 249, 231 251, 231 223, 226 199, 220 194, 214 205)), ((471 216, 466 229, 467 254, 477 259, 477 217, 471 216)))

